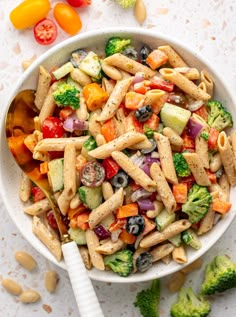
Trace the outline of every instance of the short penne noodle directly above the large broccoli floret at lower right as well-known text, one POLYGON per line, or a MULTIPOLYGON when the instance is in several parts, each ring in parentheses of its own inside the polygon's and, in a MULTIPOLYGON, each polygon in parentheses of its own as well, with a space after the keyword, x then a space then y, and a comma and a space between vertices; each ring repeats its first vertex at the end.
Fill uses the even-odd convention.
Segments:
POLYGON ((211 182, 204 169, 204 165, 197 153, 183 153, 185 160, 195 178, 195 181, 200 186, 210 186, 211 182))

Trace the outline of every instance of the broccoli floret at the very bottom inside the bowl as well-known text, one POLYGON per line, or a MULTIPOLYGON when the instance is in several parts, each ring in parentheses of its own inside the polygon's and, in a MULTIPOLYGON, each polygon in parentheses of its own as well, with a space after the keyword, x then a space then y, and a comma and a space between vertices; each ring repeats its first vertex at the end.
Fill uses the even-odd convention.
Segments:
POLYGON ((104 264, 110 266, 113 272, 122 277, 128 276, 133 269, 133 253, 121 250, 104 258, 104 264))

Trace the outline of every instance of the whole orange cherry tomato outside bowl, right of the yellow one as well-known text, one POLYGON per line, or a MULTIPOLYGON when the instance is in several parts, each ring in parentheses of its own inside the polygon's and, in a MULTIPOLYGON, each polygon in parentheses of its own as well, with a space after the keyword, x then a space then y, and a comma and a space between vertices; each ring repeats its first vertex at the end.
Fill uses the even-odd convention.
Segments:
POLYGON ((77 11, 66 3, 57 3, 53 15, 60 27, 68 34, 75 35, 82 27, 77 11))

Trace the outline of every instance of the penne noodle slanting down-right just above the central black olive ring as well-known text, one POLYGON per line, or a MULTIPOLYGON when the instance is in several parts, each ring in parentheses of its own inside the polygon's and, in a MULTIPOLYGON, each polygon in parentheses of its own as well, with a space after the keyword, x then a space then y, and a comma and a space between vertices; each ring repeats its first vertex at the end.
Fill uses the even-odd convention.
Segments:
POLYGON ((123 152, 114 151, 111 153, 112 158, 120 165, 120 167, 135 181, 149 192, 156 189, 155 182, 123 152))

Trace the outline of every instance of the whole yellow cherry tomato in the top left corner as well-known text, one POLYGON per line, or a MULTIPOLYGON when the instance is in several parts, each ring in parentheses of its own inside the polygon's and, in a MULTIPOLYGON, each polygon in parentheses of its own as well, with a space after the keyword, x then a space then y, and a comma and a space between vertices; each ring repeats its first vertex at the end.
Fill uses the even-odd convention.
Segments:
POLYGON ((11 11, 10 20, 16 29, 26 29, 44 19, 49 10, 49 0, 25 0, 11 11))

